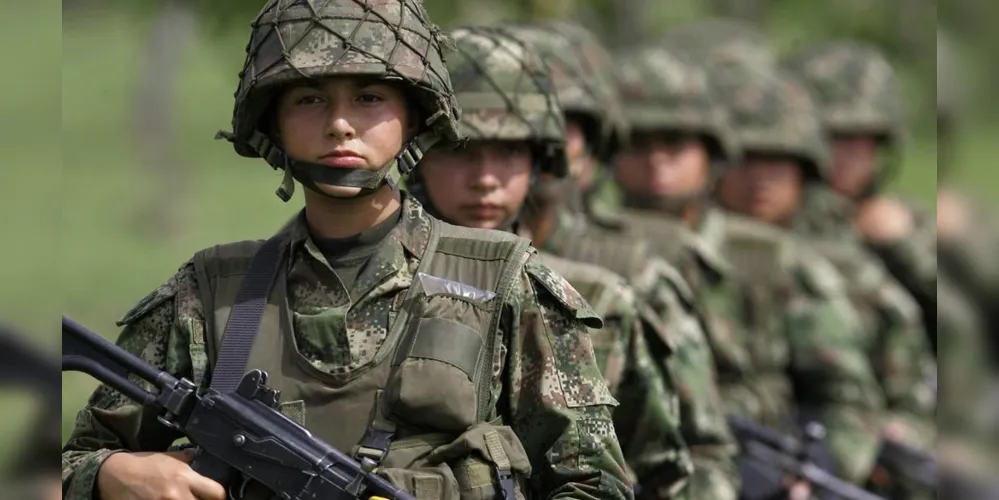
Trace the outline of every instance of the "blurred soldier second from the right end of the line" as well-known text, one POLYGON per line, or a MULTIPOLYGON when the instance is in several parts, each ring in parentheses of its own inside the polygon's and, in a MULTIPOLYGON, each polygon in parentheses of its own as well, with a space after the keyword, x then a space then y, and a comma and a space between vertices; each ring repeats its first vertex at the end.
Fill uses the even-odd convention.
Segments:
MULTIPOLYGON (((807 89, 776 71, 716 71, 713 77, 746 154, 721 182, 722 203, 775 227, 794 227, 805 186, 829 175, 826 143, 807 89)), ((916 304, 859 245, 808 243, 846 278, 845 292, 860 314, 863 352, 890 413, 885 438, 931 450, 936 365, 916 304)), ((814 268, 811 260, 802 264, 814 268)))

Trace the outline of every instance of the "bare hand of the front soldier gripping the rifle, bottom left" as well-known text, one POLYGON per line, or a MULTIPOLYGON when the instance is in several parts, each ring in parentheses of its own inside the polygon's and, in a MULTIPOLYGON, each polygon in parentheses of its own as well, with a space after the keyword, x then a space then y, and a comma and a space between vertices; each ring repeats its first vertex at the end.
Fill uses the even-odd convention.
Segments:
POLYGON ((101 500, 225 500, 225 488, 194 472, 194 450, 115 453, 97 473, 101 500))

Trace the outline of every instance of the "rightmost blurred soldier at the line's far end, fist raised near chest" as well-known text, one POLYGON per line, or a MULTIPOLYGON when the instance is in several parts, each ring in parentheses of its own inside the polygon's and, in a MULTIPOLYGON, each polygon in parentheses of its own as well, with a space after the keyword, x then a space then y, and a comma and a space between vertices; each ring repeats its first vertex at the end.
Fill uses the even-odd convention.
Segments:
MULTIPOLYGON (((812 212, 800 218, 809 233, 826 226, 843 227, 827 217, 849 221, 867 246, 916 298, 927 331, 936 322, 936 226, 932 214, 912 200, 883 193, 901 163, 904 126, 895 72, 873 47, 834 41, 812 47, 785 61, 785 66, 813 90, 822 126, 831 144, 829 185, 846 203, 826 193, 807 200, 812 212), (840 210, 823 210, 826 199, 840 210)), ((830 236, 830 235, 824 235, 830 236)), ((836 237, 836 235, 832 235, 836 237)), ((935 338, 931 335, 931 341, 935 338)))

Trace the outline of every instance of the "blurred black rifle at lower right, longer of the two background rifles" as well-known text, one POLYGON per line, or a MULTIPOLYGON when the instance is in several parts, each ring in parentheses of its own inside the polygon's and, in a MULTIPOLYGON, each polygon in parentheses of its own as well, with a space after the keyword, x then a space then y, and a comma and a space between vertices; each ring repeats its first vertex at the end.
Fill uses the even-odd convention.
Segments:
POLYGON ((728 425, 749 458, 772 465, 780 471, 807 481, 812 487, 844 500, 885 500, 846 482, 812 462, 812 446, 824 438, 819 424, 806 426, 806 441, 768 429, 756 422, 728 415, 728 425))

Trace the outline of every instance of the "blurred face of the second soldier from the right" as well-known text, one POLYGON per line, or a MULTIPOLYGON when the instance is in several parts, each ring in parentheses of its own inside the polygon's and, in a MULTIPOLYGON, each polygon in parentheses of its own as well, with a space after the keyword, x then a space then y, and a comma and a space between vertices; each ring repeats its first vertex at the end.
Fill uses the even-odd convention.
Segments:
MULTIPOLYGON (((801 204, 802 171, 793 158, 749 154, 741 170, 726 177, 723 183, 734 184, 729 189, 737 192, 736 186, 742 184, 745 193, 741 199, 728 200, 726 206, 764 222, 783 225, 801 204)), ((720 191, 723 196, 725 191, 725 187, 720 191)))

